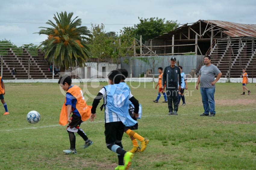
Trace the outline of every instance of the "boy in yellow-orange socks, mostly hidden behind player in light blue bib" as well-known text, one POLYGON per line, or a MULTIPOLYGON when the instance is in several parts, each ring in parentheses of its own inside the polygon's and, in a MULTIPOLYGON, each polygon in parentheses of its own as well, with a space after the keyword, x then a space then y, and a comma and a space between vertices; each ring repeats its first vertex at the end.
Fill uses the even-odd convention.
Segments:
MULTIPOLYGON (((118 71, 121 72, 122 74, 122 79, 120 83, 125 83, 124 80, 126 79, 126 77, 128 76, 128 71, 125 68, 121 68, 118 69, 118 71)), ((129 100, 130 102, 130 100, 129 100)), ((136 153, 136 152, 143 152, 146 147, 147 144, 149 142, 148 139, 143 138, 142 136, 140 136, 138 133, 134 132, 133 130, 138 129, 138 122, 137 122, 137 118, 135 118, 135 116, 133 115, 135 108, 133 106, 133 104, 130 102, 130 106, 129 106, 129 114, 130 117, 135 120, 136 122, 134 124, 132 124, 132 126, 126 126, 124 129, 124 132, 130 136, 130 139, 133 142, 133 148, 129 151, 131 153, 136 153), (137 139, 141 142, 141 148, 138 145, 137 139)))

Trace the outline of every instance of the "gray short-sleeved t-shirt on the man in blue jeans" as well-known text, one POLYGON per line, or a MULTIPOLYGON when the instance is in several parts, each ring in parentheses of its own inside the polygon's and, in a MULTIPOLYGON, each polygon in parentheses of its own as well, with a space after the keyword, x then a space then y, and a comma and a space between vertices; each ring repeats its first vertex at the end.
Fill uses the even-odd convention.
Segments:
POLYGON ((200 87, 203 88, 215 88, 215 84, 211 85, 210 82, 215 80, 215 74, 219 74, 220 70, 213 64, 209 66, 203 66, 200 71, 200 87))

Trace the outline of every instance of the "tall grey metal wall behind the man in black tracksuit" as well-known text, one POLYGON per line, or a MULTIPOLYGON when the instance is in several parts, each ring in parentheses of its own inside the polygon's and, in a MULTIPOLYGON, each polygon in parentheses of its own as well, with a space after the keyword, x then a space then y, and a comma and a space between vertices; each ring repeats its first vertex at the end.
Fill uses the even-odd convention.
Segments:
POLYGON ((154 74, 158 76, 158 67, 170 65, 170 58, 176 58, 176 65, 183 67, 183 72, 189 74, 191 69, 196 69, 201 62, 203 55, 166 55, 166 56, 147 56, 147 57, 123 57, 121 58, 121 68, 128 70, 129 76, 132 72, 132 77, 139 77, 142 72, 146 73, 148 69, 153 69, 153 60, 155 60, 154 74), (138 58, 148 58, 149 63, 145 63, 138 58), (132 71, 131 71, 132 70, 132 71))

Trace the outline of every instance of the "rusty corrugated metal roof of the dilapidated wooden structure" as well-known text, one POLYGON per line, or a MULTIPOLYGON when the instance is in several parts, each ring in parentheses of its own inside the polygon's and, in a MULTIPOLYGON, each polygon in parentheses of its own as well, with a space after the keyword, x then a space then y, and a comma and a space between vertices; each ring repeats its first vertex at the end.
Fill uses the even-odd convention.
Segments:
POLYGON ((218 21, 218 20, 202 20, 224 28, 227 31, 222 31, 230 37, 256 37, 256 24, 239 24, 234 22, 218 21))

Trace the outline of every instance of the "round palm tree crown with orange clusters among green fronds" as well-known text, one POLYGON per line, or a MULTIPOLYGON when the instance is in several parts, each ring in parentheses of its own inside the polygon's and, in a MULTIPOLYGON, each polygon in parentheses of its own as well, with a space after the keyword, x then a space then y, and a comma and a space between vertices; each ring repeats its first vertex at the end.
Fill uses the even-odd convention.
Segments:
POLYGON ((76 62, 78 66, 83 67, 86 59, 89 58, 89 48, 85 44, 91 37, 90 31, 86 26, 80 26, 81 19, 71 19, 73 12, 67 15, 67 12, 57 13, 57 17, 54 14, 55 22, 48 20, 46 24, 51 25, 53 28, 44 28, 39 32, 45 34, 48 39, 41 42, 39 48, 45 51, 45 58, 48 61, 55 62, 56 65, 61 66, 61 72, 69 67, 75 66, 76 62), (75 62, 76 61, 76 62, 75 62))

